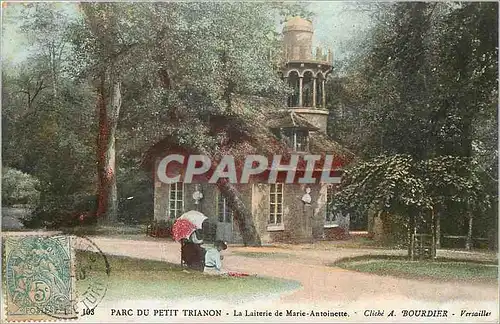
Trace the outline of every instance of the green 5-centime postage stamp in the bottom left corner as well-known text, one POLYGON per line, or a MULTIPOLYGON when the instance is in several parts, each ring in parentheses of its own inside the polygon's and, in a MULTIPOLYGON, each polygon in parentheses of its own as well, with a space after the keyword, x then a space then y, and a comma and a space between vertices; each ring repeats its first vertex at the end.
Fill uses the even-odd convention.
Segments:
POLYGON ((4 244, 7 320, 75 318, 71 237, 14 236, 4 244))

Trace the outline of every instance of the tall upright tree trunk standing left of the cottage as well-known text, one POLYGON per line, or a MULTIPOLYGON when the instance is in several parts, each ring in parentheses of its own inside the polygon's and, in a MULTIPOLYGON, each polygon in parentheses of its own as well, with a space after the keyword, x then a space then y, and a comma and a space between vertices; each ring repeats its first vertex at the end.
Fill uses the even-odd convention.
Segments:
POLYGON ((99 136, 98 151, 98 208, 101 222, 114 223, 118 216, 116 187, 116 127, 121 108, 121 82, 114 78, 111 84, 111 107, 108 109, 105 93, 105 76, 101 75, 98 90, 99 136))

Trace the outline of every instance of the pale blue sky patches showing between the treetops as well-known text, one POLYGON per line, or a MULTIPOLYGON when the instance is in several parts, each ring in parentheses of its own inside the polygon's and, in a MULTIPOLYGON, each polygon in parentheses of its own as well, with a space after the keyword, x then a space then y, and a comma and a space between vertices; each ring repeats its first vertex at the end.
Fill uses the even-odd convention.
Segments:
MULTIPOLYGON (((2 8, 2 58, 11 62, 22 62, 27 51, 22 34, 12 28, 22 5, 8 3, 2 8)), ((72 7, 71 3, 60 3, 61 7, 72 7)), ((370 27, 370 16, 364 5, 356 2, 342 1, 308 1, 309 9, 315 13, 313 26, 315 29, 314 45, 330 47, 334 61, 339 61, 355 49, 356 43, 362 39, 370 27)), ((71 10, 71 9, 69 9, 71 10)))

